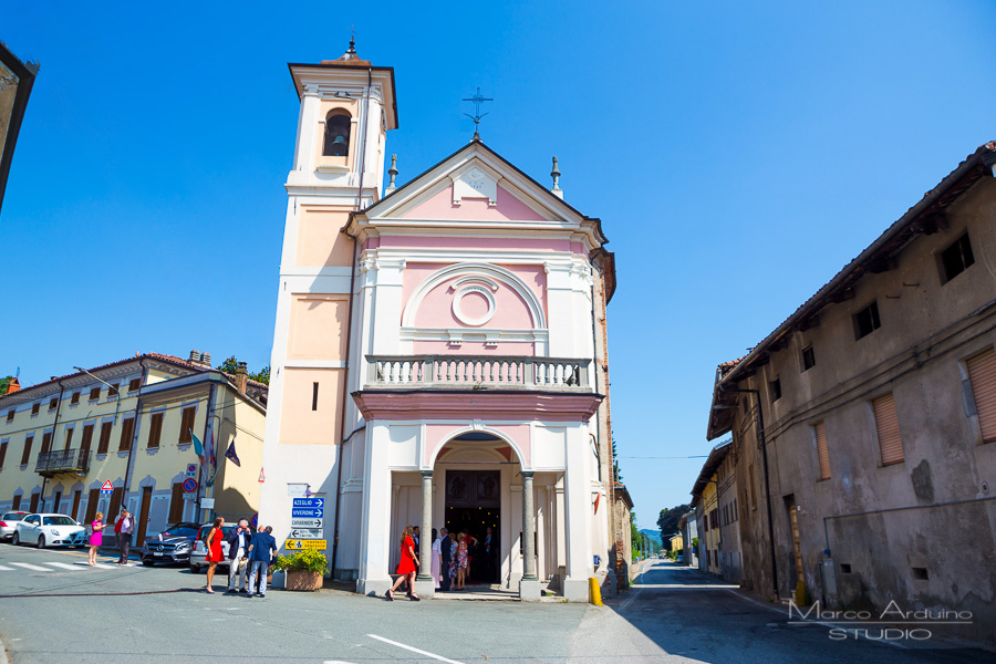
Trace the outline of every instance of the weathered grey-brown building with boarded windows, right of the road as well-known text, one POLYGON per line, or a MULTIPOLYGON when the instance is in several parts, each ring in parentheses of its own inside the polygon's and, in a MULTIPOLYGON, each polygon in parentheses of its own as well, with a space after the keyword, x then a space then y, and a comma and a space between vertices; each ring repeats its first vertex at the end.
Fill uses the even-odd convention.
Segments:
POLYGON ((707 437, 733 436, 746 588, 996 634, 994 163, 979 147, 718 369, 707 437))

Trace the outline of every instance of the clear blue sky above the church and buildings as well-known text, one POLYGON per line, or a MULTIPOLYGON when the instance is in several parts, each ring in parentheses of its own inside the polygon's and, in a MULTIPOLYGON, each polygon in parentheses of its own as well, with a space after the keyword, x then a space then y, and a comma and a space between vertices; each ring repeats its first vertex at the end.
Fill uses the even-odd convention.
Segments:
POLYGON ((41 72, 0 218, 0 373, 154 351, 269 363, 287 62, 395 68, 400 183, 485 142, 552 155, 616 252, 612 415, 641 527, 688 500, 715 367, 996 138, 996 6, 8 3, 41 72))

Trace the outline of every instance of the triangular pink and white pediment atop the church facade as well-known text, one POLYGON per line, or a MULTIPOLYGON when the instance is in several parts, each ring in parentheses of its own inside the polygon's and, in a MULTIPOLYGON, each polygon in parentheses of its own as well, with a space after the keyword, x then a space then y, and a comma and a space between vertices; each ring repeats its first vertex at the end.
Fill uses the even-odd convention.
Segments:
POLYGON ((584 216, 474 141, 365 210, 369 222, 445 221, 577 227, 584 216))

